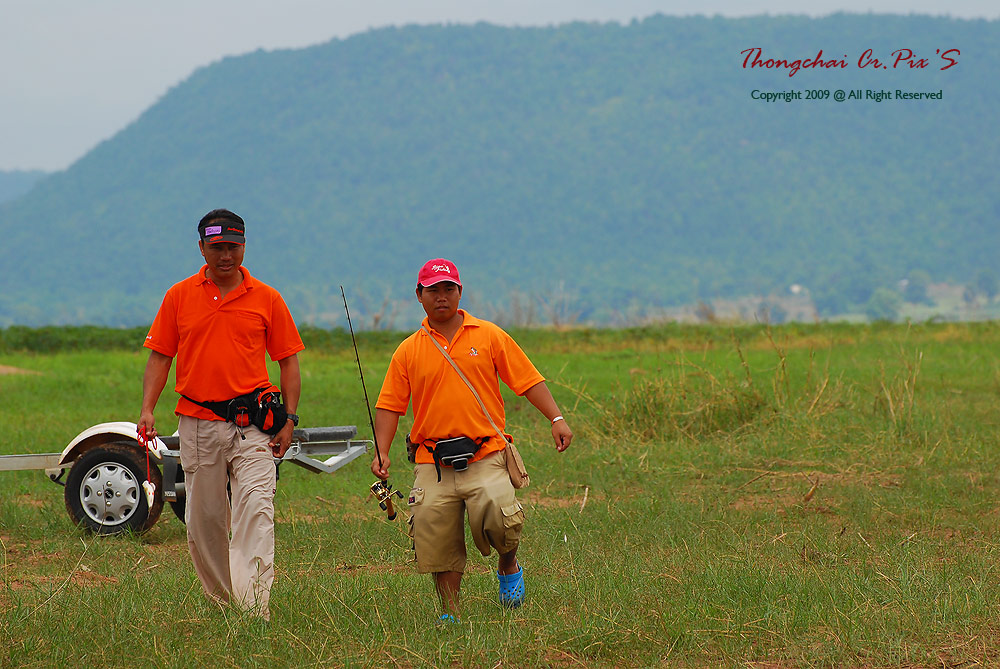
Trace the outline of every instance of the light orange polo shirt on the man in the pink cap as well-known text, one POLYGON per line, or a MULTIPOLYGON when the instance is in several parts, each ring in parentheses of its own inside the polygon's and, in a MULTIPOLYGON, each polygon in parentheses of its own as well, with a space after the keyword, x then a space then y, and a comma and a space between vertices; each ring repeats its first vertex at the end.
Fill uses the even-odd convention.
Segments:
MULTIPOLYGON (((509 334, 489 321, 459 311, 465 320, 451 342, 432 329, 428 319, 424 319, 423 325, 441 346, 447 347, 445 351, 475 387, 497 427, 504 430, 504 404, 497 377, 517 395, 523 395, 545 378, 509 334)), ((403 340, 393 353, 375 406, 405 414, 411 399, 411 441, 489 437, 473 461, 503 450, 503 442, 483 415, 472 391, 423 330, 403 340)), ((417 462, 431 463, 434 458, 426 448, 419 448, 417 462)))

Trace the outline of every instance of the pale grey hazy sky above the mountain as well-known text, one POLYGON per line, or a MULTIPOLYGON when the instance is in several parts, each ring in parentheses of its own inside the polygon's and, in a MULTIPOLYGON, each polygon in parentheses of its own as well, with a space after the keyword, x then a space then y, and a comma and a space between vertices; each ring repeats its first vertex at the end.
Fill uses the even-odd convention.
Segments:
POLYGON ((1000 0, 0 0, 0 170, 64 169, 196 68, 258 48, 408 23, 837 11, 996 19, 1000 0))

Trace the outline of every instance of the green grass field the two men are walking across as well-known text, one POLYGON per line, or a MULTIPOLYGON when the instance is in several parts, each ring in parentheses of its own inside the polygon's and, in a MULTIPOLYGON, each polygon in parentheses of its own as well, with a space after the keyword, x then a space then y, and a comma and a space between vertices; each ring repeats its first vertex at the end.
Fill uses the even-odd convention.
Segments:
MULTIPOLYGON (((533 481, 522 608, 500 609, 496 558, 473 549, 463 622, 436 629, 404 524, 365 499, 367 458, 282 467, 269 625, 207 603, 169 510, 94 537, 43 473, 11 472, 0 667, 1000 665, 1000 324, 515 334, 576 432, 557 454, 508 402, 533 481)), ((372 396, 400 337, 361 337, 372 396)), ((303 425, 370 436, 353 351, 307 344, 303 425)), ((144 364, 0 354, 31 372, 0 375, 0 454, 135 420, 144 364)))

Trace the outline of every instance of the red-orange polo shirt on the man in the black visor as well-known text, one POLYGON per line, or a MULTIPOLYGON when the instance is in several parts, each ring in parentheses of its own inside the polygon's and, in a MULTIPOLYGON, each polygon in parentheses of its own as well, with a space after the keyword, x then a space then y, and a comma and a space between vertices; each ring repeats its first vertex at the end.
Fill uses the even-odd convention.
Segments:
MULTIPOLYGON (((277 361, 305 346, 278 291, 240 267, 243 282, 222 297, 206 269, 167 291, 143 345, 177 356, 178 393, 221 402, 269 385, 265 351, 277 361)), ((183 397, 175 413, 220 420, 183 397)))

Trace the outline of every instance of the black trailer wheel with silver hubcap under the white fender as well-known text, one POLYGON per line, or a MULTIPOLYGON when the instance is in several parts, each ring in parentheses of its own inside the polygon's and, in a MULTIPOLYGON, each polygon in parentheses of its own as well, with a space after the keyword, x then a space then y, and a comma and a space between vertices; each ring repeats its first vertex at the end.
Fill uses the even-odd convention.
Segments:
POLYGON ((145 532, 163 510, 162 477, 150 466, 156 486, 153 506, 146 504, 142 482, 146 458, 135 442, 104 444, 84 453, 66 477, 66 509, 80 526, 96 534, 145 532))

